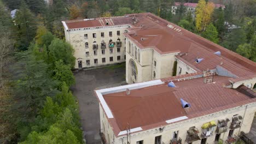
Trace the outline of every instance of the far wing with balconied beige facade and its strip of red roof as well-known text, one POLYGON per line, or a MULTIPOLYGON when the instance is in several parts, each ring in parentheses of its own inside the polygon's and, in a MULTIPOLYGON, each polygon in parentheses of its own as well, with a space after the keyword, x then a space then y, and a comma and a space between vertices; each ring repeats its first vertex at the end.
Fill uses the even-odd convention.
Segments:
POLYGON ((66 41, 75 50, 75 69, 125 62, 124 33, 129 25, 108 26, 110 24, 106 22, 103 24, 106 26, 83 28, 75 27, 77 22, 81 21, 62 22, 65 26, 66 41))

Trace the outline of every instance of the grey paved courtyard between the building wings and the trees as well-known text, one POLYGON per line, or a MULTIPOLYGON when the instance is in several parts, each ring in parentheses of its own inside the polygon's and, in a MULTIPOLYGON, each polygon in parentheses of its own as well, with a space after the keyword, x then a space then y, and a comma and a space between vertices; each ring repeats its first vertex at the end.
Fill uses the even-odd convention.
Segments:
POLYGON ((79 70, 74 73, 75 85, 71 88, 79 103, 79 114, 87 144, 100 144, 100 113, 94 89, 125 84, 125 63, 110 67, 79 70))

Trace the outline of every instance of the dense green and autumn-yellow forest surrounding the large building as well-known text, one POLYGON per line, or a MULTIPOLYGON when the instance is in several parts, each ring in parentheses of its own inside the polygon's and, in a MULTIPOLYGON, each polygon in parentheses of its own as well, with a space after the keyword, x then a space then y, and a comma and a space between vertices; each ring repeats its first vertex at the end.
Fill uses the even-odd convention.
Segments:
POLYGON ((256 62, 255 0, 0 0, 0 143, 83 143, 61 21, 143 12, 256 62), (195 18, 186 2, 198 3, 195 18))

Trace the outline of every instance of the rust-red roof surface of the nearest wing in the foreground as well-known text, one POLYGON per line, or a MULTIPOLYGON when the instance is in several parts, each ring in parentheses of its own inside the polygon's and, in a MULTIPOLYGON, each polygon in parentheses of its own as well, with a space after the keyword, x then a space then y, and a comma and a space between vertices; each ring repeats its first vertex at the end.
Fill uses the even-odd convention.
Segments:
MULTIPOLYGON (((202 76, 202 73, 198 74, 202 76)), ((189 75, 195 76, 187 76, 189 75)), ((223 84, 229 83, 230 77, 214 75, 212 83, 203 83, 204 78, 184 81, 172 79, 176 85, 174 88, 165 83, 131 90, 130 95, 126 95, 126 92, 103 95, 114 116, 109 122, 115 135, 125 131, 127 123, 131 129, 141 127, 147 130, 167 125, 165 121, 169 119, 181 116, 194 118, 256 102, 256 98, 251 97, 255 95, 251 90, 250 95, 246 95, 247 93, 241 93, 237 89, 223 87, 223 84), (183 109, 181 98, 191 107, 183 109)), ((246 87, 243 89, 249 91, 246 87)))

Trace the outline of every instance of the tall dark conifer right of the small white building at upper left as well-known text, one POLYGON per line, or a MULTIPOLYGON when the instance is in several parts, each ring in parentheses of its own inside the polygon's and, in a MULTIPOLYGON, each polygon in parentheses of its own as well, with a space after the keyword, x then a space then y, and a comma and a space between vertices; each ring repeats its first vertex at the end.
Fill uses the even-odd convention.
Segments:
POLYGON ((20 9, 15 16, 18 31, 17 45, 19 50, 27 50, 28 45, 36 35, 37 22, 25 2, 21 2, 20 9))

